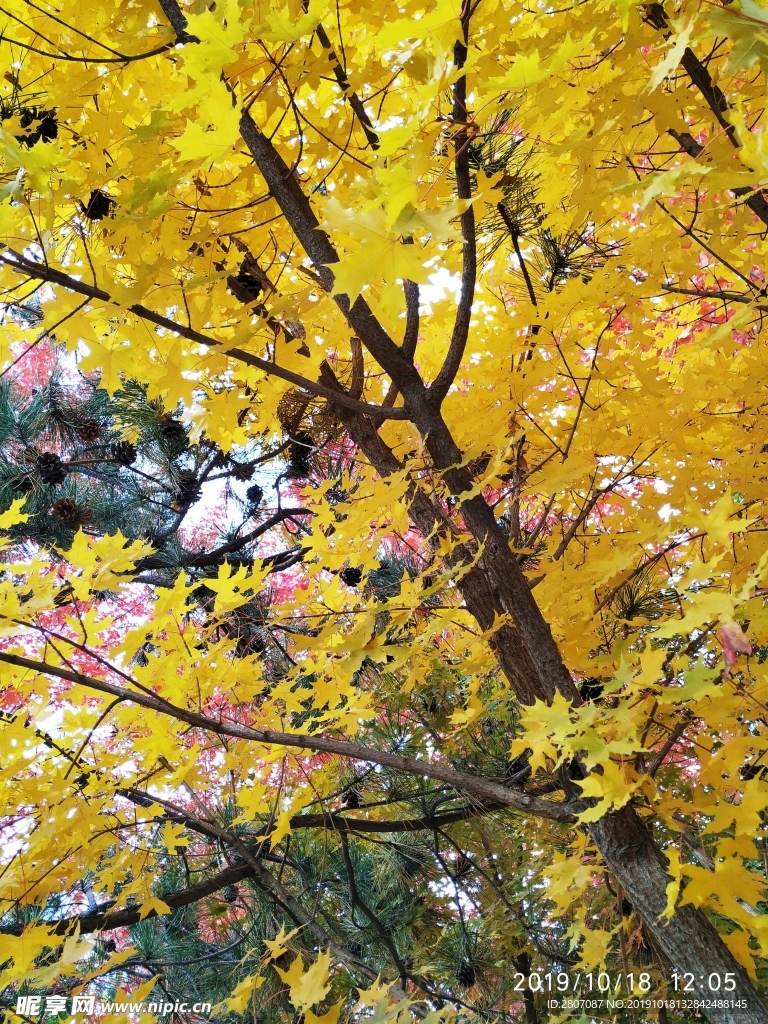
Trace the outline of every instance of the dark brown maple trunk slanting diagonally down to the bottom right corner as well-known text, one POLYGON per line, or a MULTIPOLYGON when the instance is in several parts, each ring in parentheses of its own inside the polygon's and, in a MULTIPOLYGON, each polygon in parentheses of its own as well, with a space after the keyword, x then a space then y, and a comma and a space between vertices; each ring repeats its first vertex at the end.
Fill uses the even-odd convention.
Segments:
MULTIPOLYGON (((334 284, 332 267, 339 257, 328 234, 321 228, 309 200, 271 141, 260 132, 248 113, 243 114, 240 127, 272 198, 312 261, 322 286, 331 293, 334 284)), ((430 394, 413 361, 392 341, 365 299, 357 296, 350 303, 345 294, 337 293, 334 301, 356 337, 402 395, 408 417, 418 430, 435 469, 441 473, 451 493, 461 501, 461 495, 468 493, 475 481, 466 467, 461 465, 462 452, 442 419, 440 393, 430 394)), ((335 390, 342 390, 338 382, 335 390)), ((446 390, 443 387, 442 393, 446 390)), ((344 397, 349 396, 344 393, 344 397)), ((337 407, 337 413, 352 439, 382 476, 388 476, 400 467, 399 461, 376 433, 371 420, 341 406, 337 407)), ((438 515, 429 499, 426 496, 419 498, 418 494, 415 489, 410 513, 416 526, 423 529, 427 506, 431 509, 431 524, 438 519, 438 515)), ((476 568, 457 581, 457 586, 467 608, 484 630, 493 624, 496 612, 510 615, 513 626, 499 630, 492 646, 517 698, 525 703, 536 698, 549 702, 559 691, 571 702, 580 703, 579 691, 563 664, 549 624, 534 599, 514 552, 499 528, 493 509, 477 495, 463 501, 461 510, 464 524, 481 554, 476 568)), ((430 531, 425 530, 427 536, 430 531)), ((712 1024, 730 1024, 737 1020, 744 1024, 768 1024, 768 1011, 745 971, 701 910, 682 907, 675 911, 669 923, 659 922, 658 914, 667 905, 669 882, 665 859, 634 809, 627 807, 616 814, 605 815, 593 825, 592 835, 608 867, 615 872, 616 880, 633 899, 659 947, 679 971, 694 975, 697 995, 709 997, 706 982, 710 974, 734 976, 736 990, 732 994, 735 998, 744 999, 746 1009, 736 1012, 728 1008, 702 1007, 712 1024)))

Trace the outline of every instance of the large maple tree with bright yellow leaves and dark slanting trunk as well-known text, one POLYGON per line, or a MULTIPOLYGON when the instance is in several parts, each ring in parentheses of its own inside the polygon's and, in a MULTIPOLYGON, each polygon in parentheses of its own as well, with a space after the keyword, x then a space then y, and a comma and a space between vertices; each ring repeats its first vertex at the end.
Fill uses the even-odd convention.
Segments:
POLYGON ((152 539, 82 521, 19 555, 38 510, 5 509, 7 990, 97 984, 141 933, 98 963, 84 936, 161 935, 248 880, 268 910, 231 1014, 280 978, 307 1022, 535 1019, 511 965, 549 936, 585 969, 651 948, 658 991, 732 978, 742 1005, 708 1019, 768 1019, 766 9, 88 13, 6 11, 8 364, 34 328, 109 393, 138 376, 195 443, 292 444, 306 518, 280 588, 268 558, 219 557, 204 608, 178 571, 116 633, 101 595, 152 539), (280 666, 236 649, 255 602, 280 666), (367 829, 442 837, 432 888, 414 870, 434 912, 455 884, 447 958, 425 953, 437 919, 395 934, 357 889, 399 842, 381 859, 367 829), (506 912, 520 887, 536 928, 506 912), (344 900, 375 949, 329 924, 344 900))

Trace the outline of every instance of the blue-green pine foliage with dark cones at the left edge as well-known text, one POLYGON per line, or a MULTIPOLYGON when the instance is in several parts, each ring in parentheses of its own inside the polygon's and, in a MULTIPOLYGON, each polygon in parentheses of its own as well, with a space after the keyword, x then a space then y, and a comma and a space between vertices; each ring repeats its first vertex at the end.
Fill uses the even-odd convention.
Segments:
POLYGON ((25 498, 19 541, 66 551, 80 528, 168 541, 215 455, 135 382, 114 399, 61 367, 31 393, 0 382, 0 507, 25 498))

